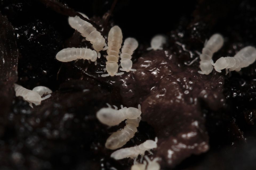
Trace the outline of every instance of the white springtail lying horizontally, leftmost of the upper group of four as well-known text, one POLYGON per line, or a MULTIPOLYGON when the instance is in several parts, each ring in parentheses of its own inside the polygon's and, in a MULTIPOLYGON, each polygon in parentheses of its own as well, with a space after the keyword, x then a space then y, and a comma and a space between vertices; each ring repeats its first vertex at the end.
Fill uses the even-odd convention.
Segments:
POLYGON ((77 59, 96 61, 97 52, 88 48, 65 48, 57 53, 56 59, 62 62, 69 62, 77 59))

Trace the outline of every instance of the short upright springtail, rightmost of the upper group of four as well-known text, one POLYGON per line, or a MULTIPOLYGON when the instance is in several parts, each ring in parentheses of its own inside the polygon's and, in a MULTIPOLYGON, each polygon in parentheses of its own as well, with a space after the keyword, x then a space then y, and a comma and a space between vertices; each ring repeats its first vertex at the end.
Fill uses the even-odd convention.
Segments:
POLYGON ((132 69, 133 62, 131 61, 131 55, 133 54, 134 50, 138 48, 138 41, 134 38, 127 38, 125 39, 125 42, 123 43, 122 53, 120 55, 121 57, 121 71, 136 71, 135 69, 132 69))

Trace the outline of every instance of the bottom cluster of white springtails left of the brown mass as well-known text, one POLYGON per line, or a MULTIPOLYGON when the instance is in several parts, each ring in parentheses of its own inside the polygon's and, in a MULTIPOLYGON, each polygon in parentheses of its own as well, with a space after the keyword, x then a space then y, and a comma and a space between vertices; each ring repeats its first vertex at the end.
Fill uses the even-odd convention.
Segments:
MULTIPOLYGON (((141 106, 138 105, 137 109, 134 107, 127 108, 121 105, 121 109, 118 110, 116 106, 114 106, 115 109, 113 109, 109 104, 107 105, 107 108, 100 109, 96 114, 98 120, 101 123, 108 126, 115 126, 127 119, 126 126, 122 130, 118 130, 117 132, 111 134, 106 141, 106 148, 115 150, 125 145, 131 138, 134 137, 134 134, 137 132, 137 127, 139 126, 139 122, 141 120, 141 106)), ((113 152, 111 157, 116 160, 128 157, 134 159, 134 165, 132 166, 133 170, 146 170, 152 169, 153 167, 155 170, 159 170, 160 165, 157 163, 157 161, 160 158, 150 161, 150 159, 146 156, 145 158, 148 162, 147 165, 145 161, 144 164, 138 163, 136 161, 138 155, 141 155, 142 161, 145 151, 148 151, 152 154, 150 150, 154 148, 157 148, 157 137, 155 138, 155 141, 146 140, 138 146, 119 149, 113 152), (155 167, 158 168, 156 169, 155 167)))

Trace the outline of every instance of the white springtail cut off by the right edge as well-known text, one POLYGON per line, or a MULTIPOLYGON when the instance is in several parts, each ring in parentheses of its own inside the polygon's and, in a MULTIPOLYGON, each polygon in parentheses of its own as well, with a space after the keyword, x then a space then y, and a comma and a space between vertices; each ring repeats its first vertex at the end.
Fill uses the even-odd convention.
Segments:
POLYGON ((228 71, 240 71, 241 68, 247 67, 256 60, 256 49, 253 46, 242 48, 234 57, 221 57, 215 63, 212 62, 214 69, 221 72, 222 69, 228 71))

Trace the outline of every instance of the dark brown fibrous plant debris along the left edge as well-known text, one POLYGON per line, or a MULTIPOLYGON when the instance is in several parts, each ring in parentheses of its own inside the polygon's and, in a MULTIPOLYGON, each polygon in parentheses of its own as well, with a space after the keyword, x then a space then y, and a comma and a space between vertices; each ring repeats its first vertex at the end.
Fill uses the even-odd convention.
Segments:
POLYGON ((14 29, 0 13, 0 136, 8 118, 14 96, 13 84, 17 81, 18 49, 14 29))

